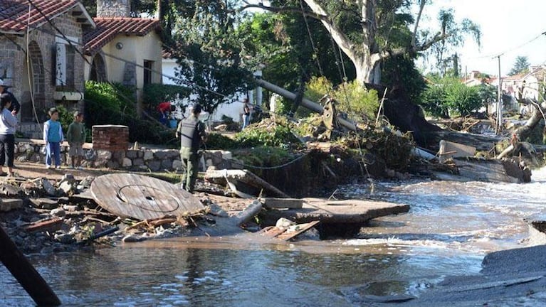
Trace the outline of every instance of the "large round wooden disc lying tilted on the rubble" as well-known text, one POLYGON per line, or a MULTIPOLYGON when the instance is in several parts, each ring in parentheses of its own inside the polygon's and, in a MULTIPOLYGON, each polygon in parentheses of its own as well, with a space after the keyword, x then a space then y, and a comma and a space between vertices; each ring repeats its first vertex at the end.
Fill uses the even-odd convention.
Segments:
POLYGON ((100 207, 120 217, 149 220, 204 210, 199 199, 179 186, 132 173, 99 176, 90 190, 100 207))

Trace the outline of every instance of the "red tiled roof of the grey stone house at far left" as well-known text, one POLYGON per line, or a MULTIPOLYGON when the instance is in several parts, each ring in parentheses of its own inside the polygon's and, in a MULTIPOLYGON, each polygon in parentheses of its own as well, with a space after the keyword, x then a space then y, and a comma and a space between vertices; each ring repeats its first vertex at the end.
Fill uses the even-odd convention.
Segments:
POLYGON ((73 10, 83 13, 87 23, 93 26, 93 21, 84 6, 75 0, 0 0, 0 33, 21 34, 26 31, 27 23, 31 28, 47 23, 47 18, 73 10), (30 6, 30 13, 29 13, 30 6))

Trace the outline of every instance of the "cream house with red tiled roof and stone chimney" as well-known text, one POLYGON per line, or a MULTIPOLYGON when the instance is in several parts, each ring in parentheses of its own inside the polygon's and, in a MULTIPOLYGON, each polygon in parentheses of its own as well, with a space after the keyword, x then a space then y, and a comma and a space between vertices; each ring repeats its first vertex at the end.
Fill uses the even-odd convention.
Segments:
POLYGON ((85 80, 133 87, 141 107, 142 88, 162 82, 161 24, 157 19, 131 18, 130 11, 127 0, 97 1, 96 27, 83 36, 85 80))

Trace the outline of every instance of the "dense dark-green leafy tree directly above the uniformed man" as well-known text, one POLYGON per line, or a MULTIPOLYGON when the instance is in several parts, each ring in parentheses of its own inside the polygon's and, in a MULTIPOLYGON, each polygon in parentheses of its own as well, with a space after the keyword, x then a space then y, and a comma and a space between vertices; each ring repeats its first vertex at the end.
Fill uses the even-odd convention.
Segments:
POLYGON ((195 1, 194 14, 177 20, 169 50, 177 59, 176 75, 204 111, 213 113, 219 104, 234 102, 237 92, 253 87, 253 77, 244 67, 241 39, 225 1, 195 1))

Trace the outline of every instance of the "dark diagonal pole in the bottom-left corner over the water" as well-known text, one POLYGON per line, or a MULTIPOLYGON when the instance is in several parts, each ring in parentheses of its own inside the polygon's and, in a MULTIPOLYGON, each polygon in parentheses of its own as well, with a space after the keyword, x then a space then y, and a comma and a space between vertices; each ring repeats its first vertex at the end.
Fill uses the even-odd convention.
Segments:
POLYGON ((0 227, 0 260, 38 306, 59 306, 61 301, 25 255, 0 227))

